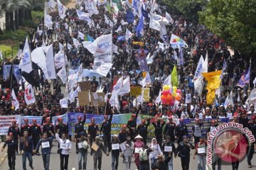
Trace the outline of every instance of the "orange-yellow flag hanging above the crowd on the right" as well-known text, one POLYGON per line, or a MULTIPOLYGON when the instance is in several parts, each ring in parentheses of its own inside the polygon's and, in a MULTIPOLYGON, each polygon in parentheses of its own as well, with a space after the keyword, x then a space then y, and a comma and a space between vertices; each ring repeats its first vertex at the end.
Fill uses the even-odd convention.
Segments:
POLYGON ((219 88, 220 86, 220 74, 222 70, 215 71, 215 72, 203 72, 203 77, 207 80, 207 86, 206 89, 208 90, 207 96, 206 96, 206 102, 207 104, 213 104, 213 101, 215 99, 215 90, 219 88))

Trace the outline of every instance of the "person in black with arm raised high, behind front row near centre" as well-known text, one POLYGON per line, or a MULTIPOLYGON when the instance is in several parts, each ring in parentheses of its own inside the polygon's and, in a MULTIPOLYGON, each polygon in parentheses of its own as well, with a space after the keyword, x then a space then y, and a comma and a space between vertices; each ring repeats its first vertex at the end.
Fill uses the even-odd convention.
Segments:
POLYGON ((107 115, 104 115, 104 121, 100 128, 100 132, 103 132, 103 140, 104 140, 105 148, 110 148, 112 118, 113 118, 113 114, 110 114, 110 119, 108 119, 107 115))

